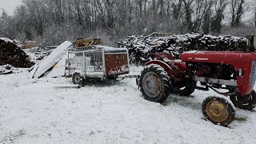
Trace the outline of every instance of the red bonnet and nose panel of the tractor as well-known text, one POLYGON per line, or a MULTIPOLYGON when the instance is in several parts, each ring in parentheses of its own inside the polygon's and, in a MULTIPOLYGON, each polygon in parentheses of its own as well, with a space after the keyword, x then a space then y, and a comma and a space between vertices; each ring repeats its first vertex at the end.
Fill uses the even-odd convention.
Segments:
POLYGON ((230 64, 234 70, 242 70, 241 77, 237 76, 238 90, 242 95, 250 94, 254 86, 250 86, 252 63, 256 61, 256 53, 246 52, 186 52, 181 55, 182 62, 230 64))

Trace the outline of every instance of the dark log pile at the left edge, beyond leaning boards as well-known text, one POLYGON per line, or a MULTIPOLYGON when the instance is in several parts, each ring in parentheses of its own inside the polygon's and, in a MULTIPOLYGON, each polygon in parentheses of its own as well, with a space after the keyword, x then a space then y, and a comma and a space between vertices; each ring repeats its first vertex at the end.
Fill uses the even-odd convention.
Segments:
POLYGON ((0 38, 0 65, 28 68, 34 65, 29 56, 8 38, 0 38))

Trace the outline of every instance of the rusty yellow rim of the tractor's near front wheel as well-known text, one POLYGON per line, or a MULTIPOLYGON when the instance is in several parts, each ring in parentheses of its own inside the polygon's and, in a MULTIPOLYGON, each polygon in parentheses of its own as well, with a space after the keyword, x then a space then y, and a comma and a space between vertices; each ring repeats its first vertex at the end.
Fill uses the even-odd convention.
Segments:
POLYGON ((228 118, 226 105, 214 100, 207 103, 206 114, 214 122, 224 122, 228 118))

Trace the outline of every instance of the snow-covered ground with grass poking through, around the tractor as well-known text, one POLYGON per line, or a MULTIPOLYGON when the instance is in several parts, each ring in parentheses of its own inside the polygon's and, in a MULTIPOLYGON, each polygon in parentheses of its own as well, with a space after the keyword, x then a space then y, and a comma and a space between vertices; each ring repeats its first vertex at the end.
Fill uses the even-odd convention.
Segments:
MULTIPOLYGON (((138 74, 142 67, 131 67, 138 74)), ((255 143, 256 110, 236 110, 229 127, 202 117, 213 91, 170 94, 164 104, 142 98, 134 78, 91 83, 70 78, 0 75, 0 143, 255 143), (67 86, 67 87, 65 87, 67 86)))

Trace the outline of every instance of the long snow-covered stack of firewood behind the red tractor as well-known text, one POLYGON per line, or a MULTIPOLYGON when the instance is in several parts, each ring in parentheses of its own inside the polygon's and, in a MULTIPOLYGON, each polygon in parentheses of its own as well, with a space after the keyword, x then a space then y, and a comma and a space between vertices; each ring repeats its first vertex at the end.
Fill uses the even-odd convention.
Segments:
POLYGON ((234 36, 212 36, 206 34, 172 35, 167 37, 129 36, 118 43, 129 50, 130 62, 147 61, 150 53, 173 52, 176 58, 183 51, 245 51, 246 38, 234 36))

